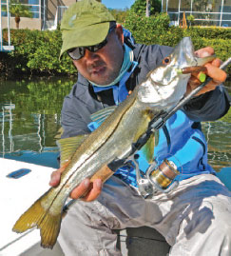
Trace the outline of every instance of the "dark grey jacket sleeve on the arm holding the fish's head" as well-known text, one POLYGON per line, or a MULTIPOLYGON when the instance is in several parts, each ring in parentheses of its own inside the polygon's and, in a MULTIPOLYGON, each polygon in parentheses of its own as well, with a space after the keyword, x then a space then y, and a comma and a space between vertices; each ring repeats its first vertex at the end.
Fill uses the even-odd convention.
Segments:
POLYGON ((230 96, 223 86, 191 99, 184 107, 186 115, 196 122, 215 121, 230 108, 230 96))

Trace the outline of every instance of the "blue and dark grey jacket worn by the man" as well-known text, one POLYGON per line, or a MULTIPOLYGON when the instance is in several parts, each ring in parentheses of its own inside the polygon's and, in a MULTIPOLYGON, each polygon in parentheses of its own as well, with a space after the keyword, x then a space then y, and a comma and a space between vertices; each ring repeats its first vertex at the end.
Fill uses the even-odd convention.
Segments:
MULTIPOLYGON (((171 52, 171 48, 152 45, 130 44, 134 59, 138 66, 125 83, 126 89, 132 90, 142 83, 146 74, 155 69, 171 52)), ((90 115, 102 108, 115 105, 112 89, 94 92, 92 86, 81 75, 65 98, 62 108, 62 138, 72 137, 90 132, 88 124, 90 115)), ((207 163, 207 145, 202 134, 201 122, 214 121, 223 116, 229 109, 229 96, 225 89, 207 92, 193 98, 186 106, 169 118, 164 128, 159 131, 159 143, 154 150, 158 164, 166 158, 172 160, 182 173, 179 180, 201 173, 215 173, 207 163)), ((95 124, 97 128, 97 124, 95 124)), ((94 129, 91 126, 91 130, 94 129)), ((148 167, 144 158, 139 158, 139 166, 145 171, 148 167)), ((126 183, 136 186, 135 171, 132 167, 122 167, 115 175, 126 183)))

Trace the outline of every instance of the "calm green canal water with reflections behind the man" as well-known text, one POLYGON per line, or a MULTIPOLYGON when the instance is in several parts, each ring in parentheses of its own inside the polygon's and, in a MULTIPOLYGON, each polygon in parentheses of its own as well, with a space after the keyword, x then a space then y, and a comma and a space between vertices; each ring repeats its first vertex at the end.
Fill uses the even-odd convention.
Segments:
MULTIPOLYGON (((0 82, 0 157, 58 167, 54 136, 60 112, 74 79, 52 78, 0 82)), ((231 93, 231 82, 225 84, 231 93)), ((210 164, 231 167, 231 110, 216 122, 202 124, 210 164)))

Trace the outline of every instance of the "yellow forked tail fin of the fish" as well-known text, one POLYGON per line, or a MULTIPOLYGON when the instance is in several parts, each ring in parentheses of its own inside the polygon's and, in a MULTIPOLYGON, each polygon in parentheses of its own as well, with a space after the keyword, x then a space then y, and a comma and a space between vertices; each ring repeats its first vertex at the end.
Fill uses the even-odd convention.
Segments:
POLYGON ((42 206, 42 201, 47 193, 39 198, 29 209, 17 220, 12 230, 17 233, 23 233, 26 230, 37 226, 40 229, 41 246, 52 248, 60 231, 62 207, 60 214, 52 214, 48 209, 42 206))

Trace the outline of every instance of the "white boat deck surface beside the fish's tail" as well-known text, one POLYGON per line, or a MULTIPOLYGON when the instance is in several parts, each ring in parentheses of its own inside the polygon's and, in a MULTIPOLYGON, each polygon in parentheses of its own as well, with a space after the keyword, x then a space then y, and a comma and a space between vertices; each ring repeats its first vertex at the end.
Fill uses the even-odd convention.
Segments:
POLYGON ((43 249, 40 244, 38 229, 17 234, 11 231, 20 215, 48 190, 51 167, 41 167, 29 163, 0 158, 0 255, 63 255, 57 249, 43 249), (21 168, 29 168, 29 174, 19 178, 8 178, 7 175, 21 168), (25 189, 26 187, 26 189, 25 189), (47 254, 48 253, 48 254, 47 254))

